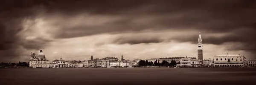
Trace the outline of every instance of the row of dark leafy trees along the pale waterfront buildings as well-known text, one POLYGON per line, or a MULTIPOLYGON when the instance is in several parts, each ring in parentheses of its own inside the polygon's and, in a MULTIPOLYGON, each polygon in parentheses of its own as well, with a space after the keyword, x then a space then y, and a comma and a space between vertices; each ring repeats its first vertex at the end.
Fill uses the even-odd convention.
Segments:
POLYGON ((140 60, 139 66, 175 66, 180 64, 180 62, 176 63, 175 60, 172 60, 170 63, 163 60, 161 63, 159 61, 148 62, 148 60, 140 60))

